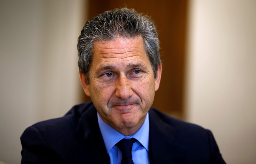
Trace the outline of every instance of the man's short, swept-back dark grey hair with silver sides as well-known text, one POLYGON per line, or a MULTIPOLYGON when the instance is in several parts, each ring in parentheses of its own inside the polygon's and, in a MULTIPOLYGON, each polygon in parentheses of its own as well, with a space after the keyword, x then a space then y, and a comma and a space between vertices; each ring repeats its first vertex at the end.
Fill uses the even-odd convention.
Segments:
POLYGON ((78 37, 78 67, 86 74, 89 84, 89 70, 93 59, 93 43, 109 41, 117 37, 134 38, 141 36, 145 51, 156 78, 159 55, 159 40, 156 27, 147 15, 137 13, 134 9, 115 9, 99 14, 85 23, 78 37))

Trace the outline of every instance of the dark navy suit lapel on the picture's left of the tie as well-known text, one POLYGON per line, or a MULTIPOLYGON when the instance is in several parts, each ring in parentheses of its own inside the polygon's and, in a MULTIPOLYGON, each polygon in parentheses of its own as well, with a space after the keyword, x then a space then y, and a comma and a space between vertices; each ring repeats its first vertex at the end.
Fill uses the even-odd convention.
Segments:
POLYGON ((81 143, 73 150, 76 164, 110 164, 93 105, 81 116, 75 133, 81 143))

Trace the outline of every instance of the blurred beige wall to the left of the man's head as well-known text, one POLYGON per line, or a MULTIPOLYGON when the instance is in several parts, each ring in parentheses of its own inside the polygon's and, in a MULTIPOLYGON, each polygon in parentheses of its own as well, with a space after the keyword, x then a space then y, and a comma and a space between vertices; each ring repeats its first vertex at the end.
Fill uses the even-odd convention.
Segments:
POLYGON ((84 0, 0 1, 0 161, 20 163, 20 135, 79 100, 76 43, 84 0))

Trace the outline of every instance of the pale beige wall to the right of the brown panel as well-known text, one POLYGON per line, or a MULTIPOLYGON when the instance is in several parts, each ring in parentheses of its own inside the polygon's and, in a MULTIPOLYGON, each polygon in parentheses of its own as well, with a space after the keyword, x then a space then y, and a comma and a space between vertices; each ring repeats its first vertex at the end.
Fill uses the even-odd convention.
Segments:
POLYGON ((186 117, 227 163, 256 161, 256 1, 190 1, 186 117))

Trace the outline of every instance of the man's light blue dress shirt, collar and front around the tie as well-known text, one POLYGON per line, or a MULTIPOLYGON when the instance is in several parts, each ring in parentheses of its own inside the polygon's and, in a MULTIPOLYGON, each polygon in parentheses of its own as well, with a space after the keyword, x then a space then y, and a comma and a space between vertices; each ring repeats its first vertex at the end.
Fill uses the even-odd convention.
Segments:
POLYGON ((105 123, 98 114, 98 123, 100 132, 103 137, 108 155, 110 157, 110 164, 120 164, 122 160, 122 153, 115 145, 123 138, 135 138, 138 141, 132 146, 132 160, 134 164, 149 164, 148 154, 148 138, 149 138, 149 119, 148 113, 146 119, 140 129, 132 136, 124 136, 119 133, 107 123, 105 123))

